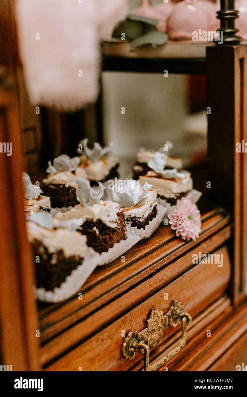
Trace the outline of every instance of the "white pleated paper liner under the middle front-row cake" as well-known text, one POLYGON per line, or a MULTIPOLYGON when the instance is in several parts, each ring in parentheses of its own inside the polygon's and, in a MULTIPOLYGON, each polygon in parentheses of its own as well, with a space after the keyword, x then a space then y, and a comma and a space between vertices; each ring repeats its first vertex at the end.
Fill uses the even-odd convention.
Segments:
POLYGON ((121 240, 119 243, 115 243, 113 247, 109 248, 107 252, 101 252, 98 258, 98 266, 106 265, 109 262, 119 258, 124 252, 128 251, 133 245, 140 241, 141 237, 138 236, 129 225, 127 227, 127 239, 121 240))

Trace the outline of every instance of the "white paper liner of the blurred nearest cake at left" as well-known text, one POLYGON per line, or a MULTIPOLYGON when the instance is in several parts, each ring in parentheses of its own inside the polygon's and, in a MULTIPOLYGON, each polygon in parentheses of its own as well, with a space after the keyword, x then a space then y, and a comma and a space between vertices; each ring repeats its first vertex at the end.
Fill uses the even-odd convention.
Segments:
POLYGON ((61 302, 73 296, 80 287, 84 284, 86 279, 94 271, 98 264, 98 252, 92 248, 88 248, 82 263, 72 270, 71 274, 66 277, 65 281, 61 283, 60 287, 54 288, 53 291, 46 291, 44 288, 36 288, 36 298, 43 302, 61 302))

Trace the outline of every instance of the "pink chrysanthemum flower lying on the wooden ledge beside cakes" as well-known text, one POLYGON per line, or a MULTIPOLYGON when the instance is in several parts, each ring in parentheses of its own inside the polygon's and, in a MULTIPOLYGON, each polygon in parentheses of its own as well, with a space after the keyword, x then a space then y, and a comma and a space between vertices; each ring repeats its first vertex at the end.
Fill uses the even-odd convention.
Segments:
POLYGON ((170 225, 176 230, 176 236, 183 240, 194 240, 201 233, 201 215, 195 204, 186 197, 177 201, 174 211, 168 215, 170 225))

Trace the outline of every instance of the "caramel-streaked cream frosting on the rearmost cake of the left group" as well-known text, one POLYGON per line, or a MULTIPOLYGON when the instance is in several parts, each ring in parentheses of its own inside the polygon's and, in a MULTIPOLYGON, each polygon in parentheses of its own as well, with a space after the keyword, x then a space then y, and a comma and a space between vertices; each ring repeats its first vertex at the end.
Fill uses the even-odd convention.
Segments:
POLYGON ((75 170, 75 174, 79 177, 84 178, 80 175, 81 169, 86 171, 86 177, 90 181, 103 181, 108 175, 113 167, 115 167, 119 160, 112 156, 103 156, 99 160, 92 162, 86 159, 85 156, 80 157, 80 165, 75 170))

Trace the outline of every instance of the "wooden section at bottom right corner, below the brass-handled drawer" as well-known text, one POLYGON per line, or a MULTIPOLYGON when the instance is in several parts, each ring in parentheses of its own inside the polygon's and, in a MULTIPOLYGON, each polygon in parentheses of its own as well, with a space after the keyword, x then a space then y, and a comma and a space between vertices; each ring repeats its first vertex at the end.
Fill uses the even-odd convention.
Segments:
MULTIPOLYGON (((165 364, 168 371, 236 371, 236 366, 242 370, 243 363, 247 365, 247 303, 234 310, 229 301, 227 296, 221 297, 205 310, 203 318, 199 315, 198 322, 193 320, 186 346, 165 364)), ((171 340, 169 349, 173 346, 171 340)), ((156 350, 159 359, 167 353, 167 346, 163 343, 156 350)))

